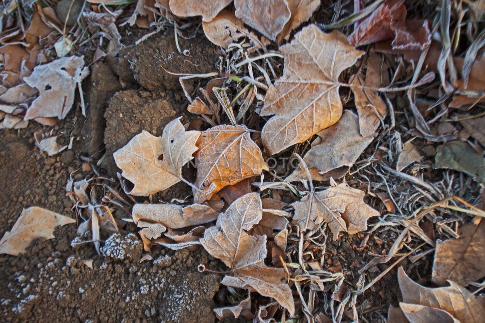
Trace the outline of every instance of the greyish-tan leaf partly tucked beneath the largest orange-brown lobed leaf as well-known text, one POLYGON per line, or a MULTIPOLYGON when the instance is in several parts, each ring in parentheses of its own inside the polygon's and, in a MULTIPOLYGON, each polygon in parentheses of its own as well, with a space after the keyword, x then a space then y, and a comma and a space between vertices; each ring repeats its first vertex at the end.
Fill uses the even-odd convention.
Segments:
POLYGON ((342 166, 353 166, 375 136, 362 137, 358 117, 348 110, 337 124, 317 135, 320 139, 312 142, 303 160, 308 168, 317 168, 321 174, 342 166))

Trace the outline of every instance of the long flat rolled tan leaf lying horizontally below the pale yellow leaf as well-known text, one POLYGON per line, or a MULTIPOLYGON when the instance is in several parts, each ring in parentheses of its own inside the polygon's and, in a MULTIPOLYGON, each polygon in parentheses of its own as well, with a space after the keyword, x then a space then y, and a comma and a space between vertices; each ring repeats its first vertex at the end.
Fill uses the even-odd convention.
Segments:
POLYGON ((156 222, 172 229, 209 223, 219 215, 210 206, 202 204, 185 207, 175 204, 135 204, 132 214, 135 223, 140 220, 156 222))

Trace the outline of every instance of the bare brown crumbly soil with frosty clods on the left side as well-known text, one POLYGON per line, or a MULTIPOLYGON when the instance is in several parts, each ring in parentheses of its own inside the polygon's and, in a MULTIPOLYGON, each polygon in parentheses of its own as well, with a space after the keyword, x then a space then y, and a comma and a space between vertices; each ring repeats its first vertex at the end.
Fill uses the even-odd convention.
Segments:
MULTIPOLYGON (((87 116, 81 115, 76 103, 74 112, 53 131, 62 144, 74 137, 72 150, 43 156, 35 147, 33 133, 42 129, 47 134, 51 127, 34 122, 18 132, 2 131, 1 236, 12 228, 22 208, 32 205, 74 217, 72 202, 65 195, 70 173, 76 180, 96 176, 92 171, 82 172, 81 165, 91 156, 99 158, 106 152, 98 170, 103 174, 103 169, 107 169, 115 175, 119 171, 112 157, 115 150, 142 129, 161 135, 166 123, 185 115, 187 101, 180 91, 178 77, 154 73, 160 70, 154 67, 163 61, 178 73, 211 72, 215 54, 203 38, 182 39, 180 46, 188 48, 191 56, 174 51, 171 30, 167 35, 156 34, 121 52, 119 66, 127 66, 130 60, 128 65, 133 70, 124 71, 122 76, 134 73, 132 79, 138 81, 138 84, 123 82, 123 91, 118 81, 121 76, 111 72, 113 64, 93 64, 91 76, 85 81, 87 116), (196 66, 189 67, 189 60, 196 66)), ((198 79, 187 84, 188 89, 200 86, 198 79)), ((187 176, 193 173, 186 172, 187 176)), ((154 198, 170 200, 190 194, 190 187, 180 183, 154 198)), ((116 212, 115 216, 127 215, 116 212)), ((140 263, 141 240, 136 233, 126 235, 136 230, 131 224, 122 229, 123 235, 111 237, 101 232, 104 241, 101 256, 89 242, 90 231, 79 235, 75 225, 57 228, 55 239, 34 241, 24 255, 1 255, 0 321, 214 322, 213 299, 221 277, 201 274, 197 266, 203 263, 217 270, 220 262, 204 250, 175 252, 153 247, 150 253, 153 260, 140 263), (80 242, 83 243, 77 244, 80 242), (85 260, 93 260, 93 269, 82 262, 85 260)))

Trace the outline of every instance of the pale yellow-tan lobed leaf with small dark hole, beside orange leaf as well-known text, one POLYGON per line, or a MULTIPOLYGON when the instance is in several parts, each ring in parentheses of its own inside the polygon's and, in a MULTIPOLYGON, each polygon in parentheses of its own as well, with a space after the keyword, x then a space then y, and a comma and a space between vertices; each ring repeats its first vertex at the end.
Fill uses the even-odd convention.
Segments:
POLYGON ((182 167, 198 149, 200 132, 185 131, 180 118, 165 126, 162 137, 144 130, 113 154, 123 177, 134 184, 128 194, 147 196, 182 180, 182 167))

